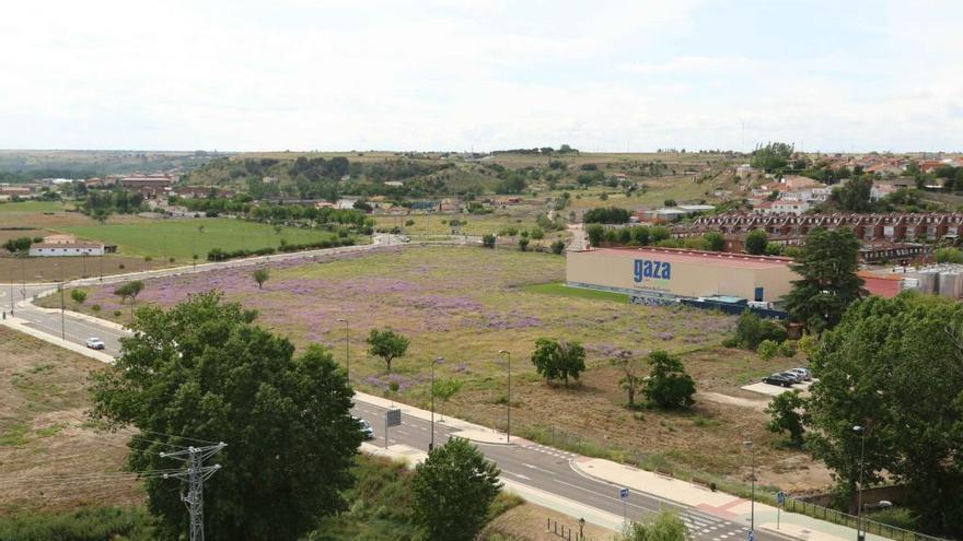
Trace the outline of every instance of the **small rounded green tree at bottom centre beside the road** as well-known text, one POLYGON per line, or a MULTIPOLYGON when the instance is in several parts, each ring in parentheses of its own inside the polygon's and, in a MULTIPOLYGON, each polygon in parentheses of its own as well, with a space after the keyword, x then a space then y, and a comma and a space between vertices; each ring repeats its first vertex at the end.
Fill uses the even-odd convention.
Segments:
POLYGON ((501 492, 498 468, 471 442, 453 437, 415 467, 414 516, 432 541, 472 541, 501 492))

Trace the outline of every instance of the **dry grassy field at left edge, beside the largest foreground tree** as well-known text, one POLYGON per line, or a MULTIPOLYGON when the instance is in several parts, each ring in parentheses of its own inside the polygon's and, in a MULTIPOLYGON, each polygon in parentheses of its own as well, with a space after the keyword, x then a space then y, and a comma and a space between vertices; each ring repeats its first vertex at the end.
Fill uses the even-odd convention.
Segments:
POLYGON ((0 352, 0 515, 141 503, 119 473, 126 432, 84 416, 86 375, 103 364, 5 327, 0 352))

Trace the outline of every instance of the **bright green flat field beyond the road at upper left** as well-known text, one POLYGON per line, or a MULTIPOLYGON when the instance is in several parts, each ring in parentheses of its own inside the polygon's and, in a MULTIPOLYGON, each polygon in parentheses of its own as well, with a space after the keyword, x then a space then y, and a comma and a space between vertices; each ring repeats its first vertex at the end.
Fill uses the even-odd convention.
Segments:
POLYGON ((334 238, 325 231, 281 227, 231 219, 161 220, 144 223, 60 227, 80 238, 116 244, 124 255, 155 259, 190 260, 197 254, 205 259, 213 248, 225 251, 305 244, 334 238))

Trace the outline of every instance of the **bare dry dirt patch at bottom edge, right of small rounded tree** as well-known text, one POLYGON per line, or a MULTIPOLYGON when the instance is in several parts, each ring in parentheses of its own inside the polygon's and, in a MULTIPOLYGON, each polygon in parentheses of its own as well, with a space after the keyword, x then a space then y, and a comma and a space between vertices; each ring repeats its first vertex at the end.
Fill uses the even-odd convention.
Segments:
MULTIPOLYGON (((578 517, 562 515, 535 504, 522 504, 509 509, 485 529, 485 534, 501 533, 511 539, 524 541, 559 541, 559 539, 569 539, 556 536, 553 530, 548 529, 549 524, 552 528, 557 529, 559 532, 562 528, 565 528, 566 532, 572 530, 570 539, 577 538, 579 532, 578 517)), ((587 541, 602 541, 612 539, 614 532, 606 528, 585 524, 583 533, 587 541)))

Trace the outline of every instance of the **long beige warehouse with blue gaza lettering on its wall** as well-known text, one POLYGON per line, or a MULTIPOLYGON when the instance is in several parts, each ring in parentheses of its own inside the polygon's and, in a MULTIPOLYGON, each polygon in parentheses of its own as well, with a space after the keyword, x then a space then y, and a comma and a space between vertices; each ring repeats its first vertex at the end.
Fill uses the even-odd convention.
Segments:
POLYGON ((566 282, 654 302, 718 296, 776 302, 799 279, 791 261, 675 248, 595 248, 568 252, 566 282))

